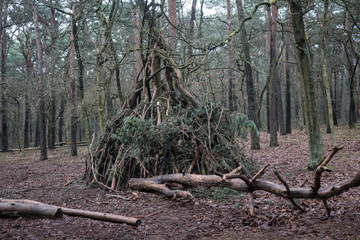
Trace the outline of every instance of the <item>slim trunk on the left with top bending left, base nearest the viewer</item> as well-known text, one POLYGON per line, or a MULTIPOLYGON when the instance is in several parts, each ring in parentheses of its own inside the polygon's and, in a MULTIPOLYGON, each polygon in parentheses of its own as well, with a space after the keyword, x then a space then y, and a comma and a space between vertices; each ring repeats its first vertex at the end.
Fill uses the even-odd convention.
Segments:
POLYGON ((33 15, 35 25, 36 48, 38 57, 38 83, 39 83, 39 136, 40 136, 40 160, 46 160, 46 113, 45 113, 45 79, 43 73, 43 48, 41 43, 41 36, 39 32, 38 16, 32 0, 29 0, 29 5, 33 15))

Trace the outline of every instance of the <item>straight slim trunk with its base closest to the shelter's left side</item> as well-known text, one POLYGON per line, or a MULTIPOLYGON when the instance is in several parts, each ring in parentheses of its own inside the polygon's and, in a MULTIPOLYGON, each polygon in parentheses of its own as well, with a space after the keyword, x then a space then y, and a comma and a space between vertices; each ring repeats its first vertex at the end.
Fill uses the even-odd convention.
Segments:
MULTIPOLYGON (((72 11, 75 13, 75 1, 72 3, 72 11)), ((71 18, 71 31, 70 31, 70 135, 71 135, 71 156, 77 156, 76 133, 77 133, 77 109, 76 109, 76 83, 75 83, 75 43, 74 43, 74 18, 71 18)))

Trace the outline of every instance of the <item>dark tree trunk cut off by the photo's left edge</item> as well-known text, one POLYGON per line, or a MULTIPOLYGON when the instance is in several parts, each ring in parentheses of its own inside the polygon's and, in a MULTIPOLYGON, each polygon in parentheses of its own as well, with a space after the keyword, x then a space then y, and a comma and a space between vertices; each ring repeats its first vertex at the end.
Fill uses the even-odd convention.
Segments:
POLYGON ((6 51, 6 28, 7 28, 7 15, 8 15, 8 1, 2 1, 1 3, 1 18, 0 18, 0 31, 1 31, 1 78, 0 86, 2 86, 1 91, 1 151, 7 152, 9 150, 8 142, 8 124, 7 124, 7 99, 5 96, 5 77, 6 77, 6 60, 7 60, 7 51, 6 51))

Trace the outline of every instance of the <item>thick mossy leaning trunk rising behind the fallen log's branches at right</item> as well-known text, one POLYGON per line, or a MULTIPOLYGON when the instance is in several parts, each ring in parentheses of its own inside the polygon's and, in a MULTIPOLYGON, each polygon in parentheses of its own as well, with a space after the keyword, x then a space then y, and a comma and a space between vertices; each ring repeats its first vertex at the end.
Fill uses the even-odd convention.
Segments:
POLYGON ((305 34, 302 1, 289 0, 288 2, 297 46, 301 91, 304 100, 304 115, 310 151, 308 168, 314 170, 324 159, 324 154, 316 108, 315 86, 311 76, 310 48, 305 34))

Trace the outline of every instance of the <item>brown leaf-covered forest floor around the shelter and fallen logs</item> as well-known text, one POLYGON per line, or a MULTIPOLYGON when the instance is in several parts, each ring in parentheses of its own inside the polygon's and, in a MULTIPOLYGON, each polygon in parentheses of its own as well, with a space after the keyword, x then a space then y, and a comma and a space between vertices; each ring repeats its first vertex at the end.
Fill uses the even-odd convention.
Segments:
MULTIPOLYGON (((323 176, 323 186, 352 178, 360 170, 360 125, 336 128, 338 152, 323 176)), ((332 149, 329 134, 323 133, 325 154, 332 149)), ((304 131, 279 136, 280 147, 270 148, 269 136, 261 133, 261 150, 249 151, 260 166, 270 164, 262 177, 279 182, 279 171, 290 186, 305 178, 310 186, 313 172, 306 170, 308 147, 304 131)), ((360 188, 350 189, 329 200, 327 217, 318 200, 298 200, 307 212, 294 209, 286 199, 256 192, 256 217, 250 217, 247 195, 230 189, 192 190, 191 201, 171 200, 153 193, 138 193, 136 200, 111 197, 95 185, 87 185, 86 147, 79 157, 69 150, 49 152, 39 161, 39 151, 0 153, 0 198, 31 199, 47 204, 138 217, 139 227, 80 217, 60 219, 0 218, 0 239, 360 239, 360 188), (71 184, 66 185, 69 181, 71 184)), ((118 193, 131 198, 132 191, 118 193)))

